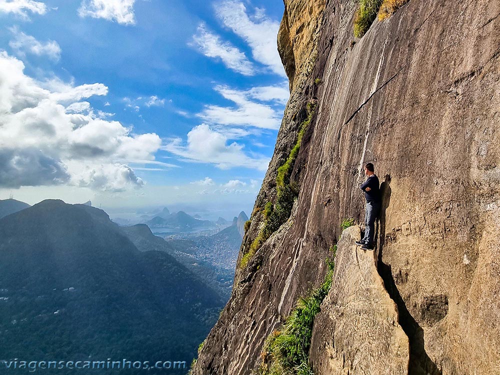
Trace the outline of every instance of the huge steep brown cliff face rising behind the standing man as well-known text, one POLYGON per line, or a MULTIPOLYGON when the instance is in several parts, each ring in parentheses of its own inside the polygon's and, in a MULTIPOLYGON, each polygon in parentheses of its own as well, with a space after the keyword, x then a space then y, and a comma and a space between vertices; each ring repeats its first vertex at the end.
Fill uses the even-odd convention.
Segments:
MULTIPOLYGON (((410 0, 361 39, 352 34, 356 6, 285 0, 279 50, 292 94, 240 258, 257 235, 261 208, 275 200, 277 168, 306 103, 317 102, 291 174, 300 193, 289 220, 236 269, 231 299, 195 374, 250 374, 258 366, 265 337, 322 280, 340 221, 363 221, 358 183, 367 161, 383 181, 375 263, 409 342, 408 373, 500 373, 500 2, 410 0), (303 10, 291 17, 292 9, 303 10), (310 39, 287 42, 300 28, 310 39), (298 68, 297 55, 311 57, 298 68)), ((324 373, 342 373, 330 357, 341 338, 319 334, 336 329, 326 317, 338 306, 328 301, 358 290, 335 288, 317 316, 309 353, 314 369, 329 368, 324 373)), ((372 337, 380 345, 386 338, 372 337)), ((364 341, 343 342, 342 351, 354 353, 364 341)), ((367 360, 377 352, 365 354, 367 360)), ((345 373, 377 373, 354 362, 342 366, 345 373)))

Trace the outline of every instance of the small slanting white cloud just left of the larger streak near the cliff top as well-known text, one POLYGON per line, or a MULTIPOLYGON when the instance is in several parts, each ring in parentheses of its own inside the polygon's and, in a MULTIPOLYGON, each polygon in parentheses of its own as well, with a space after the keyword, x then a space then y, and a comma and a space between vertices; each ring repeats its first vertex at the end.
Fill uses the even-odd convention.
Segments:
POLYGON ((231 70, 243 75, 254 75, 253 64, 246 55, 229 42, 223 42, 220 37, 209 31, 202 22, 192 36, 192 45, 199 48, 207 57, 220 58, 222 63, 231 70))

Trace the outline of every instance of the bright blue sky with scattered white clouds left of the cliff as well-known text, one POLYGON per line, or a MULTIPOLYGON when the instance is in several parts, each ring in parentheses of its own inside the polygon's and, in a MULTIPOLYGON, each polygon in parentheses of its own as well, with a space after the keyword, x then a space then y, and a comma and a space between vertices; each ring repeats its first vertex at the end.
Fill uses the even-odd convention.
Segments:
POLYGON ((282 12, 0 0, 0 198, 249 214, 288 98, 282 12))

